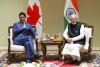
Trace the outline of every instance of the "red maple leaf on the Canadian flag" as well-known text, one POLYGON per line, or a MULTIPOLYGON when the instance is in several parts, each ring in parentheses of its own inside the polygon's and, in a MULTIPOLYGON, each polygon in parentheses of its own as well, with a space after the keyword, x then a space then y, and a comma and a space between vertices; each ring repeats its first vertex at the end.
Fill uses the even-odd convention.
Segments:
POLYGON ((27 9, 27 14, 29 16, 29 17, 27 17, 27 22, 35 26, 38 19, 40 18, 39 6, 37 6, 36 3, 35 3, 34 6, 33 6, 33 10, 29 6, 28 9, 27 9))

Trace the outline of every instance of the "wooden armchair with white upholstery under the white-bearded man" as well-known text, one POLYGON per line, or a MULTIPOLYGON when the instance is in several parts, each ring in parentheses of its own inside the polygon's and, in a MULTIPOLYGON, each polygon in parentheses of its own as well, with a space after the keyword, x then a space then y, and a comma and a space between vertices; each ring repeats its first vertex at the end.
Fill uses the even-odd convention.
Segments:
POLYGON ((81 53, 81 57, 85 58, 85 56, 87 56, 88 62, 92 61, 92 44, 93 44, 93 29, 94 27, 83 23, 85 26, 85 37, 86 37, 86 42, 85 42, 85 46, 80 49, 80 53, 81 53))

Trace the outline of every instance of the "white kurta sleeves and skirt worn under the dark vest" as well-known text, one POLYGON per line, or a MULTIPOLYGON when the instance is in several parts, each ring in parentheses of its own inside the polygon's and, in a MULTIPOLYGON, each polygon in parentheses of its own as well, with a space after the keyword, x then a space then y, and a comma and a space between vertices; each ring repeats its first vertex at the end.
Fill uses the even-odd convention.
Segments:
MULTIPOLYGON (((68 37, 68 26, 66 27, 66 29, 63 33, 63 36, 64 36, 65 39, 69 38, 68 37)), ((84 25, 81 25, 80 35, 73 37, 72 40, 77 41, 77 40, 80 40, 80 39, 83 39, 83 38, 84 38, 84 25)), ((79 50, 82 47, 83 47, 83 45, 81 45, 81 44, 74 44, 73 42, 72 43, 66 43, 64 48, 63 48, 62 55, 72 55, 72 56, 80 57, 79 50)))

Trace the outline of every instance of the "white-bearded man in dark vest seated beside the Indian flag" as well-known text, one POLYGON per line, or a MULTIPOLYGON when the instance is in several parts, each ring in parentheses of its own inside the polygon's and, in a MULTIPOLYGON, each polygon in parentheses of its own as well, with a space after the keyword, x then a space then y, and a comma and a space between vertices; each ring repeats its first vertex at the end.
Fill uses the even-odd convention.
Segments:
POLYGON ((85 45, 84 25, 78 21, 75 14, 70 16, 70 21, 63 33, 67 43, 65 44, 62 55, 70 55, 72 61, 70 63, 79 65, 81 62, 80 49, 85 45))

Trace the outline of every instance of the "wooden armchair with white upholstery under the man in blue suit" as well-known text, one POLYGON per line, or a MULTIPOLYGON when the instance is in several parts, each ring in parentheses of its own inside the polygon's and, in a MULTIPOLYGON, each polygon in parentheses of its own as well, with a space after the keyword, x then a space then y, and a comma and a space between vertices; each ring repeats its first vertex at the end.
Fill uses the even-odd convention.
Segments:
MULTIPOLYGON (((35 26, 32 26, 33 29, 35 29, 35 26)), ((23 59, 23 55, 25 54, 25 48, 24 46, 21 45, 14 45, 13 44, 13 33, 12 33, 13 26, 8 27, 8 63, 11 63, 14 60, 18 60, 17 56, 20 56, 21 59, 23 59)), ((36 31, 36 29, 35 29, 36 31)), ((33 42, 34 42, 34 47, 38 52, 38 44, 37 40, 34 39, 33 37, 33 42)))

